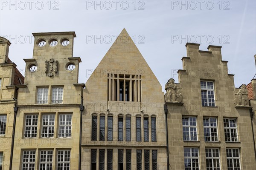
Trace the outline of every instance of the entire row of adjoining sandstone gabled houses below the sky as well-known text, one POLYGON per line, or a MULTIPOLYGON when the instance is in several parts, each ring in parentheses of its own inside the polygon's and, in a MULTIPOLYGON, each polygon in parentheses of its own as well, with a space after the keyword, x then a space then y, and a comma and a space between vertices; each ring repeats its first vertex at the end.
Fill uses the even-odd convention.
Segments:
POLYGON ((164 94, 125 29, 86 84, 75 32, 33 35, 25 77, 0 39, 0 170, 256 169, 256 80, 235 88, 220 46, 187 43, 164 94))

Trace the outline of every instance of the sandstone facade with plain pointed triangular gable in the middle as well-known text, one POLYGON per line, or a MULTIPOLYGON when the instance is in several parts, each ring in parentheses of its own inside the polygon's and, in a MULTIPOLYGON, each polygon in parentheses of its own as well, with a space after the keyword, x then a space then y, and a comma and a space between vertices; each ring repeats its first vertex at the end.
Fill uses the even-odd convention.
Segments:
POLYGON ((97 152, 95 165, 97 170, 101 168, 107 169, 107 150, 112 150, 113 152, 113 170, 128 170, 127 150, 131 150, 132 170, 137 167, 137 150, 142 151, 142 169, 145 169, 145 152, 148 152, 147 150, 149 150, 150 167, 152 167, 152 150, 157 150, 157 167, 159 170, 166 169, 166 130, 163 95, 159 81, 131 40, 131 37, 123 29, 86 82, 86 89, 84 90, 85 112, 83 113, 82 124, 83 152, 81 169, 91 168, 91 150, 93 149, 96 149, 97 152), (124 90, 123 86, 125 86, 126 90, 124 90), (122 90, 119 91, 119 88, 122 90), (127 95, 125 95, 125 92, 127 92, 127 95), (97 118, 96 139, 92 138, 92 135, 95 134, 92 130, 93 116, 97 118), (100 138, 101 116, 105 116, 105 126, 103 126, 105 128, 105 132, 103 132, 105 139, 100 138), (108 138, 108 117, 113 118, 112 138, 108 138), (129 134, 131 136, 129 135, 129 139, 126 138, 128 137, 126 136, 126 133, 128 133, 126 130, 128 129, 126 118, 131 118, 131 127, 129 126, 131 132, 129 134), (140 140, 137 140, 136 126, 139 126, 137 118, 141 122, 140 140), (156 140, 152 139, 154 137, 152 137, 151 133, 151 120, 154 118, 156 118, 156 140), (147 121, 149 136, 145 138, 143 127, 147 124, 147 121), (122 124, 121 127, 119 127, 119 123, 122 124), (119 131, 123 131, 120 134, 123 136, 122 139, 119 138, 119 131), (99 150, 104 150, 104 167, 99 165, 99 150), (118 162, 118 150, 123 150, 123 164, 121 165, 119 164, 120 161, 118 162))

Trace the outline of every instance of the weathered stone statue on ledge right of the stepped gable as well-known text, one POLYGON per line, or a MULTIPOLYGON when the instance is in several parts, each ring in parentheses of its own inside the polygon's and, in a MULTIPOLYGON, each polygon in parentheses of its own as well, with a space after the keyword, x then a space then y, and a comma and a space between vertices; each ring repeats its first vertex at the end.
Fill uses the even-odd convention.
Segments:
POLYGON ((236 106, 249 106, 248 90, 245 84, 242 84, 241 89, 236 95, 236 106))

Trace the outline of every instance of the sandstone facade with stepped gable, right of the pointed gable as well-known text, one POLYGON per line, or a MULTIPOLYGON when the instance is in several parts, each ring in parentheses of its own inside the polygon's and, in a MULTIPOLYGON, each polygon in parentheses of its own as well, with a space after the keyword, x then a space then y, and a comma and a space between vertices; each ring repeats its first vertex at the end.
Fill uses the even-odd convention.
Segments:
POLYGON ((183 105, 166 103, 169 168, 182 170, 186 166, 193 166, 206 170, 211 166, 219 166, 220 169, 227 170, 226 153, 231 149, 231 152, 239 154, 239 158, 234 157, 240 161, 240 165, 237 164, 240 169, 255 170, 249 111, 251 107, 236 107, 235 93, 239 92, 239 89, 234 86, 234 75, 227 72, 227 61, 222 61, 221 47, 209 46, 208 51, 201 51, 199 45, 186 44, 187 57, 182 58, 183 69, 178 71, 180 84, 177 84, 177 87, 182 87, 183 105), (207 126, 209 121, 213 122, 209 123, 212 127, 207 126), (235 134, 227 134, 231 131, 227 123, 235 126, 235 134), (207 129, 210 132, 207 132, 207 129), (186 133, 186 130, 189 132, 186 133), (215 157, 215 160, 220 162, 218 165, 208 163, 210 158, 207 158, 206 152, 212 153, 212 149, 218 152, 217 158, 215 157), (184 157, 185 151, 195 151, 197 155, 184 157), (186 163, 192 159, 198 161, 198 164, 186 163))

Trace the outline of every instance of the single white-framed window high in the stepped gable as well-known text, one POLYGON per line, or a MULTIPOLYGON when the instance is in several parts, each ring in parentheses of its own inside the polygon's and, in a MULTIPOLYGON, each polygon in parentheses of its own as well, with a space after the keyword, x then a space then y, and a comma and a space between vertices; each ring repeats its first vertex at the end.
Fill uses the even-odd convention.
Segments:
POLYGON ((212 81, 201 81, 202 106, 215 106, 214 85, 212 81))

